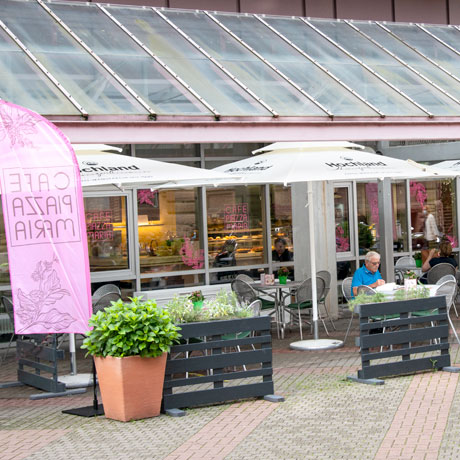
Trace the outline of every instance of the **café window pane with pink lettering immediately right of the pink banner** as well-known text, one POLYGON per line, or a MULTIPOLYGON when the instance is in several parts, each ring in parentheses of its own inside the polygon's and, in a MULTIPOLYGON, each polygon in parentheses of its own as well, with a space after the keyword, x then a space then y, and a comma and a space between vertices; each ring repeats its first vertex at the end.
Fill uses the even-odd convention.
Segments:
POLYGON ((129 268, 126 197, 86 197, 84 202, 90 270, 129 268))

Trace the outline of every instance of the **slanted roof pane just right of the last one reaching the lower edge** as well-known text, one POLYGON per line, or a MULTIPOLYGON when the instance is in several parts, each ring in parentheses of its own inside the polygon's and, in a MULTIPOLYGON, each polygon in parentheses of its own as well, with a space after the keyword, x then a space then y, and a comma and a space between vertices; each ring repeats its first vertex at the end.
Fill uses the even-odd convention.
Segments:
MULTIPOLYGON (((460 98, 460 83, 449 77, 449 75, 431 64, 420 54, 406 46, 403 42, 394 38, 376 24, 368 22, 354 22, 360 30, 371 36, 374 40, 383 45, 386 49, 396 54, 404 62, 414 67, 425 77, 436 83, 449 94, 460 98)), ((422 32, 419 32, 422 33, 422 32)))

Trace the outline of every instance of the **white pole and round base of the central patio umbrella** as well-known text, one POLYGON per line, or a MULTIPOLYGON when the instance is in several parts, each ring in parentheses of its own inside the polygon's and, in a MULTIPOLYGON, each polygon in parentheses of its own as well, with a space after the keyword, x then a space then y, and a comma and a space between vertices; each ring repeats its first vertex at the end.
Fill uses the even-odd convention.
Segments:
POLYGON ((308 231, 310 233, 310 276, 311 276, 311 303, 313 313, 313 340, 301 340, 293 342, 290 347, 294 350, 331 350, 343 347, 341 340, 320 339, 318 334, 318 293, 316 290, 316 251, 315 251, 315 225, 313 213, 313 185, 307 182, 308 198, 308 231))

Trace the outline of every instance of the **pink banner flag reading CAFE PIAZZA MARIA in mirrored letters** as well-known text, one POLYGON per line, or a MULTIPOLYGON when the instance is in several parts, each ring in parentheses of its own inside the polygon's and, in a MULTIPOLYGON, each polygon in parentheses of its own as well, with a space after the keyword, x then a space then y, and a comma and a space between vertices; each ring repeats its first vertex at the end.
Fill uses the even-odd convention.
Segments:
POLYGON ((72 146, 45 118, 0 101, 0 155, 15 332, 84 333, 91 289, 72 146))

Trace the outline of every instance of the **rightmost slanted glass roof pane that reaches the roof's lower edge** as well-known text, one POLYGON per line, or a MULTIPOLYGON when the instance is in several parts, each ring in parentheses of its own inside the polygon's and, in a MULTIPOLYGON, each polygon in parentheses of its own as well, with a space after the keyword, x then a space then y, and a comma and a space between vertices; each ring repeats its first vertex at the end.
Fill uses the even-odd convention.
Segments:
POLYGON ((311 21, 311 23, 425 109, 438 115, 460 113, 460 105, 453 103, 452 99, 446 97, 346 23, 331 21, 311 21))

